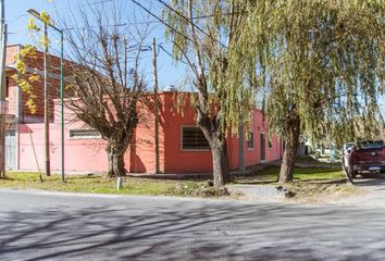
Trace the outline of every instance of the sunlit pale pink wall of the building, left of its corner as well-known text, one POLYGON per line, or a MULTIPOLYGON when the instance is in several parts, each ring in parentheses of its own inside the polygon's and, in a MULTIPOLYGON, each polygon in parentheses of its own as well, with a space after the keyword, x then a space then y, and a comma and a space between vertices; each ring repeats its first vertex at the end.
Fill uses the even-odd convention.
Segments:
MULTIPOLYGON (((135 132, 136 142, 129 148, 124 157, 125 166, 129 172, 154 173, 154 119, 153 103, 140 108, 141 121, 135 132)), ((65 110, 65 119, 73 119, 73 114, 65 110)), ((161 117, 162 122, 162 117, 161 117)), ((69 172, 105 172, 108 158, 105 141, 102 139, 70 138, 70 129, 85 128, 82 122, 66 122, 64 129, 65 144, 65 170, 69 172)), ((163 130, 160 126, 160 169, 164 170, 163 130)), ((36 171, 37 164, 33 152, 32 141, 35 145, 40 170, 45 167, 44 150, 44 124, 20 125, 20 170, 36 171)), ((51 170, 61 170, 61 124, 60 103, 55 100, 54 123, 50 124, 51 170)))

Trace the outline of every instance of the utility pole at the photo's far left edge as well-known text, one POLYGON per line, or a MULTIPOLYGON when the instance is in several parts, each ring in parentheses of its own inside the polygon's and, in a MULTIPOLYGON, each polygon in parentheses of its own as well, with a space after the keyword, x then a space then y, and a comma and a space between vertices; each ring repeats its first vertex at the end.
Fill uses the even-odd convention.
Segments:
POLYGON ((0 0, 0 178, 5 177, 5 113, 8 110, 5 103, 5 57, 7 57, 7 24, 5 24, 5 4, 0 0))

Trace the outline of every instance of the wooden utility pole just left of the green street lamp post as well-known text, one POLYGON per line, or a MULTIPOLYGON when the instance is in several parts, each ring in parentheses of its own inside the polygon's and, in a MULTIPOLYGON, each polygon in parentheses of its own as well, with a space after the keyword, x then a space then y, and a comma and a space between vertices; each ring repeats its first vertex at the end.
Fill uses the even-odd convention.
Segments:
POLYGON ((45 23, 45 152, 46 152, 46 175, 51 175, 50 151, 49 151, 49 89, 48 89, 48 26, 45 23))

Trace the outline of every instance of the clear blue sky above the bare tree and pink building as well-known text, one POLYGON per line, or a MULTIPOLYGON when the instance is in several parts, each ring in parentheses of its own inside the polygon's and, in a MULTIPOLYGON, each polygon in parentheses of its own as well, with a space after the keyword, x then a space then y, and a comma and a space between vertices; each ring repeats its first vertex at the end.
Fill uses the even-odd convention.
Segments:
MULTIPOLYGON (((35 9, 38 12, 47 11, 53 21, 59 21, 59 17, 70 18, 73 12, 76 12, 79 8, 87 8, 87 4, 91 2, 102 2, 103 8, 112 9, 113 3, 124 5, 124 9, 128 15, 136 14, 137 21, 140 22, 141 17, 146 18, 146 13, 131 0, 5 0, 5 20, 8 23, 8 45, 14 44, 33 44, 37 45, 37 39, 28 36, 27 23, 30 17, 26 10, 35 9)), ((140 4, 150 9, 152 12, 160 15, 161 7, 157 5, 157 1, 139 0, 140 4)), ((101 3, 100 3, 101 4, 101 3)), ((156 37, 157 42, 161 44, 163 48, 171 52, 171 45, 164 38, 164 26, 156 21, 153 17, 147 17, 152 21, 153 26, 151 34, 147 41, 148 45, 152 44, 152 38, 156 37)), ((76 25, 71 25, 76 26, 76 25)), ((78 26, 78 25, 77 25, 78 26)), ((54 30, 49 30, 49 38, 52 46, 50 52, 53 54, 59 53, 59 35, 54 30)), ((65 42, 64 42, 65 46, 65 42)), ((152 74, 152 52, 144 53, 142 69, 146 74, 152 74)), ((186 67, 183 64, 175 64, 170 54, 159 49, 158 55, 158 77, 159 88, 163 89, 170 85, 179 86, 186 75, 186 67)), ((149 76, 149 88, 152 88, 152 78, 149 76)))

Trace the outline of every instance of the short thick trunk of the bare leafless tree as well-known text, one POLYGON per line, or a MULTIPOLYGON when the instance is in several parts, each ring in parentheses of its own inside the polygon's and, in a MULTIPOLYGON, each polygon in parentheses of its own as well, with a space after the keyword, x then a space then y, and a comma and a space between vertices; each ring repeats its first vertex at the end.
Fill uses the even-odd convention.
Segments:
POLYGON ((109 158, 109 177, 126 175, 126 170, 124 167, 124 152, 125 150, 122 151, 122 148, 119 148, 115 145, 107 146, 107 153, 109 158))

